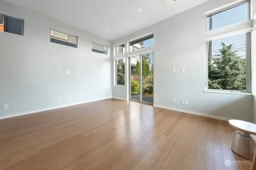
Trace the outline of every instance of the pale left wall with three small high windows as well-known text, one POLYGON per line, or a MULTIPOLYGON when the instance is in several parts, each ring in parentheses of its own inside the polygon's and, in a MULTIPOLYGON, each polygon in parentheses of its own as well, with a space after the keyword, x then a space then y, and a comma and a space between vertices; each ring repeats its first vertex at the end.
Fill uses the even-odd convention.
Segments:
POLYGON ((0 32, 0 119, 111 97, 111 51, 92 52, 92 41, 111 42, 8 2, 0 13, 25 20, 24 36, 0 32), (79 36, 79 48, 51 43, 50 29, 79 36))

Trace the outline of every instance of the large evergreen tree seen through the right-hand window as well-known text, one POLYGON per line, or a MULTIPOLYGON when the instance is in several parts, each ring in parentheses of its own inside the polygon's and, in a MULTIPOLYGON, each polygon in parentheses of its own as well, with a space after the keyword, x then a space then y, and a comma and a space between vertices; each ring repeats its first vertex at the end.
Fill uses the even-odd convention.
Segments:
POLYGON ((222 42, 221 55, 208 63, 209 89, 246 90, 246 59, 222 42))

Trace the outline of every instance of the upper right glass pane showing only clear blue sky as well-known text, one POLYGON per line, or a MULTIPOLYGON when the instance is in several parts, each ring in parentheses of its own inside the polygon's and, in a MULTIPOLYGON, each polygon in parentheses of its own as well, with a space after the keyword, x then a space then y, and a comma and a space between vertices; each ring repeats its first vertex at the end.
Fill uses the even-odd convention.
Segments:
POLYGON ((246 20, 249 20, 248 2, 212 16, 208 16, 207 31, 246 20))

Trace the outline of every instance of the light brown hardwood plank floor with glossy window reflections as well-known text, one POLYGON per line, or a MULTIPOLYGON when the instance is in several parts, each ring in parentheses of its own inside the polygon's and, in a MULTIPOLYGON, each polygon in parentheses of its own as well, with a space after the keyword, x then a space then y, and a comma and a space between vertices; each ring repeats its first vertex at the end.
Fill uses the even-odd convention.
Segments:
POLYGON ((246 170, 226 121, 107 99, 0 120, 0 170, 246 170))

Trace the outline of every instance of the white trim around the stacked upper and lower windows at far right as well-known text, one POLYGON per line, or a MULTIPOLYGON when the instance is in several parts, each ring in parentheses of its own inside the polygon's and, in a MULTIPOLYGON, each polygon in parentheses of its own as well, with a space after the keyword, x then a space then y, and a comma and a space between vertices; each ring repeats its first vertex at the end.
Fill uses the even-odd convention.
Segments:
POLYGON ((206 40, 206 62, 205 62, 205 91, 204 92, 211 92, 211 93, 228 93, 228 94, 240 94, 240 95, 251 95, 252 87, 251 87, 251 79, 252 79, 252 66, 251 66, 251 30, 252 30, 252 20, 251 14, 250 14, 250 0, 242 1, 236 4, 232 4, 232 6, 228 6, 225 8, 222 8, 221 10, 216 10, 214 12, 211 12, 209 14, 206 14, 206 21, 207 17, 210 15, 217 14, 219 12, 228 10, 230 8, 234 8, 236 6, 239 6, 241 4, 244 4, 248 2, 248 18, 249 20, 244 22, 239 22, 236 24, 232 24, 230 26, 224 26, 221 28, 216 28, 214 30, 207 31, 207 22, 206 22, 206 34, 205 34, 205 40, 206 40), (250 33, 250 34, 247 34, 250 33), (229 36, 236 36, 239 34, 246 34, 246 91, 236 91, 236 90, 222 90, 222 89, 209 89, 208 87, 208 41, 217 40, 220 38, 225 38, 229 36), (248 36, 249 35, 249 36, 248 36))

